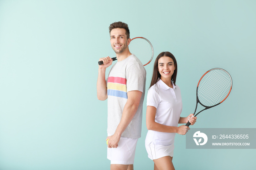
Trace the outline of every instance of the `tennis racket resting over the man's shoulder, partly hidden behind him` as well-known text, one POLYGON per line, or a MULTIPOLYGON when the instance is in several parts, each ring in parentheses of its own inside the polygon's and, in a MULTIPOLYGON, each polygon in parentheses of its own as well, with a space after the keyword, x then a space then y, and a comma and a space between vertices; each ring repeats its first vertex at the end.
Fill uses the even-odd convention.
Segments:
MULTIPOLYGON (((136 37, 131 39, 129 44, 129 50, 132 54, 135 54, 136 57, 142 62, 143 66, 146 66, 150 63, 154 56, 154 49, 149 40, 143 37, 136 37)), ((117 58, 113 57, 113 61, 117 58)), ((98 62, 99 65, 103 64, 103 61, 98 62)))

